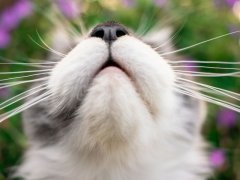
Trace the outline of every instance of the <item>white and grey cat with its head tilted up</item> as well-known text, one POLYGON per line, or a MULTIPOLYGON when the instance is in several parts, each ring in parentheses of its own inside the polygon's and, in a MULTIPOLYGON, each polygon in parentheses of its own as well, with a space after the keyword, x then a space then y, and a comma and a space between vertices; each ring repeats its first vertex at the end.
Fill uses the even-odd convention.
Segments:
POLYGON ((57 28, 53 49, 66 56, 49 61, 49 75, 32 87, 41 89, 27 101, 37 103, 23 115, 29 148, 15 176, 206 180, 206 106, 175 90, 177 57, 153 48, 167 32, 140 39, 109 21, 73 42, 57 28))

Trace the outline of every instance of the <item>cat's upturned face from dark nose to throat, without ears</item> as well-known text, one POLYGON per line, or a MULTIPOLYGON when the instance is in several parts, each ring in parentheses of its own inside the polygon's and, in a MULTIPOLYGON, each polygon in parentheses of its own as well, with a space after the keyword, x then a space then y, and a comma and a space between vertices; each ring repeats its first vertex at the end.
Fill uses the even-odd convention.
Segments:
POLYGON ((51 96, 25 113, 26 129, 47 144, 101 152, 184 135, 200 105, 187 107, 192 100, 174 93, 174 81, 172 67, 150 45, 122 25, 104 23, 53 67, 51 96))

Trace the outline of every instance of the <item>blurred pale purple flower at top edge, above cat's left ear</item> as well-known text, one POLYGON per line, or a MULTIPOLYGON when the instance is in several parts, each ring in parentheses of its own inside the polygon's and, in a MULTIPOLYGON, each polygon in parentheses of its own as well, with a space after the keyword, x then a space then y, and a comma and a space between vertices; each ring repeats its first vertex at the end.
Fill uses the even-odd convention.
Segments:
POLYGON ((79 15, 79 7, 73 0, 57 0, 57 4, 62 13, 70 18, 74 19, 79 15))

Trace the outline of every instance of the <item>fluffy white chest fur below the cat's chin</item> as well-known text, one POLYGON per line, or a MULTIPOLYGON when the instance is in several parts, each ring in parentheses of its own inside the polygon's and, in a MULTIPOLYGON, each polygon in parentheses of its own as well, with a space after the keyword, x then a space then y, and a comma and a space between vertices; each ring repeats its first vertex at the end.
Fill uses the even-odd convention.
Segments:
MULTIPOLYGON (((201 180, 207 177, 205 158, 195 147, 182 153, 163 152, 164 148, 145 147, 136 152, 119 153, 111 157, 70 156, 61 147, 32 150, 28 152, 31 163, 22 169, 27 179, 86 179, 86 180, 159 180, 178 179, 201 180), (153 151, 159 150, 158 152, 153 151), (140 152, 141 151, 141 152, 140 152), (171 154, 171 157, 169 156, 171 154), (31 172, 29 170, 31 169, 31 172), (28 171, 28 173, 27 173, 28 171)), ((175 147, 176 148, 176 147, 175 147)), ((179 148, 179 147, 177 147, 179 148)), ((27 156, 28 157, 28 156, 27 156)))

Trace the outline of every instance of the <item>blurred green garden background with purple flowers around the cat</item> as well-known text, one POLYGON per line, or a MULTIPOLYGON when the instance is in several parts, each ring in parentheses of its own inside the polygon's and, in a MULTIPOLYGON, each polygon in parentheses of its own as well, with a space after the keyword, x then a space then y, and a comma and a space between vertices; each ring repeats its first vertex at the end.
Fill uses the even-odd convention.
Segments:
MULTIPOLYGON (((34 70, 34 67, 11 62, 41 62, 48 51, 38 33, 50 43, 49 32, 57 24, 56 19, 66 21, 68 26, 81 33, 99 22, 116 20, 146 34, 156 24, 171 26, 176 32, 173 39, 177 49, 240 30, 239 0, 0 0, 0 72, 34 70), (55 9, 56 11, 52 11, 55 9)), ((181 52, 183 60, 240 62, 240 33, 181 52)), ((189 62, 191 65, 197 63, 189 62)), ((200 64, 201 65, 201 64, 200 64)), ((205 64, 208 65, 208 64, 205 64)), ((212 64, 211 64, 212 65, 212 64)), ((240 65, 218 67, 240 68, 240 65)), ((191 71, 218 72, 218 69, 191 68, 191 71)), ((223 72, 223 71, 221 71, 223 72)), ((229 71, 227 71, 229 72, 229 71)), ((5 81, 29 74, 0 74, 0 114, 8 112, 22 101, 2 108, 2 102, 24 92, 28 83, 12 85, 21 78, 5 81), (9 84, 10 83, 10 84, 9 84)), ((239 77, 198 78, 212 86, 240 93, 239 77)), ((240 98, 240 95, 238 95, 240 98)), ((239 104, 238 100, 227 99, 239 104)), ((212 145, 209 158, 215 169, 212 179, 240 180, 240 114, 229 109, 209 105, 207 122, 203 134, 212 145)), ((19 164, 26 148, 26 138, 22 133, 21 115, 16 115, 0 124, 0 180, 6 179, 11 168, 19 164)))

